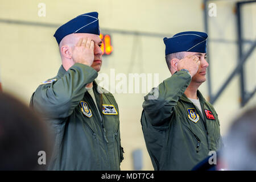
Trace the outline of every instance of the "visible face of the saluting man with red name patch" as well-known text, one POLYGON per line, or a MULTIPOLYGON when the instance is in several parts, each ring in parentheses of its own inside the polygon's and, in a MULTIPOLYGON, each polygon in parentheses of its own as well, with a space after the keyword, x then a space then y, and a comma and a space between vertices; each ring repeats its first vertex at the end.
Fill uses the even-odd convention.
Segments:
POLYGON ((188 55, 195 55, 197 57, 199 57, 200 60, 200 65, 198 68, 198 71, 196 73, 196 75, 194 75, 192 77, 192 81, 193 82, 197 82, 197 83, 203 83, 205 82, 206 78, 205 75, 207 73, 207 67, 209 66, 208 62, 207 62, 207 54, 206 53, 200 53, 200 52, 185 52, 185 56, 188 55))

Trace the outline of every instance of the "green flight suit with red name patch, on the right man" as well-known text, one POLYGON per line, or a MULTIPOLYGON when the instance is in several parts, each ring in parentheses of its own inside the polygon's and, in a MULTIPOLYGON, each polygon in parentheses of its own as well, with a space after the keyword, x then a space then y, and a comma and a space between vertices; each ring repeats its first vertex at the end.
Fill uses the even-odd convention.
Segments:
POLYGON ((197 90, 201 114, 185 96, 190 82, 191 76, 179 71, 144 97, 141 124, 155 170, 191 170, 222 145, 213 106, 197 90))

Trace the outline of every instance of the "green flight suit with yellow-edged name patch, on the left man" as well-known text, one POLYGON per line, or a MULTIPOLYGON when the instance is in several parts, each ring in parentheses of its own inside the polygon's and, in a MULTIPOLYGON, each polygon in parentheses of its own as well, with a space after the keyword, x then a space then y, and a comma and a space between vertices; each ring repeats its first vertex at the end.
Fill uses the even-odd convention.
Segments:
POLYGON ((76 63, 68 71, 61 65, 57 76, 33 93, 30 105, 43 113, 55 134, 49 170, 120 170, 118 105, 94 82, 97 75, 84 64, 76 63), (92 81, 97 106, 85 88, 92 81), (104 114, 103 105, 115 110, 104 114))

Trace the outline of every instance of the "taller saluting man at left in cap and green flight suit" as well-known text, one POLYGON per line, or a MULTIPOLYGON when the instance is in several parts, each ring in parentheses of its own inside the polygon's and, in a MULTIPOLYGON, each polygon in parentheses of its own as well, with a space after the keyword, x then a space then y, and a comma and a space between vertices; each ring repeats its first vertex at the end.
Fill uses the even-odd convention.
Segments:
POLYGON ((49 170, 120 170, 118 105, 94 81, 102 64, 99 35, 97 12, 79 15, 55 32, 62 65, 30 102, 55 134, 49 170))

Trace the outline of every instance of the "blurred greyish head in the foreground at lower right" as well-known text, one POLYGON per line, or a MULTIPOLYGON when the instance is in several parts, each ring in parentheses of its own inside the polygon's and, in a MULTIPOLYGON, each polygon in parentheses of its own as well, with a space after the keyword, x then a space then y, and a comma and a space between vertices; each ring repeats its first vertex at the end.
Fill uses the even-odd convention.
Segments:
POLYGON ((231 125, 223 138, 217 169, 256 171, 256 107, 245 111, 231 125))

